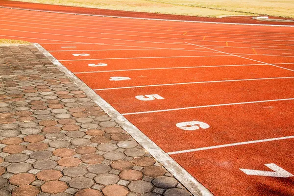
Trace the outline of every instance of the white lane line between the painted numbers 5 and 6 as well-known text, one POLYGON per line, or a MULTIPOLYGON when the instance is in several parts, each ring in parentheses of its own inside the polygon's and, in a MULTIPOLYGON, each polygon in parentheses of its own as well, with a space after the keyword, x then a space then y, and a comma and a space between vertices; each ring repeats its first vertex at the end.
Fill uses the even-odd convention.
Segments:
POLYGON ((124 113, 122 115, 126 116, 126 115, 133 115, 133 114, 147 114, 147 113, 156 113, 156 112, 168 112, 168 111, 176 111, 176 110, 205 108, 205 107, 219 107, 219 106, 226 106, 226 105, 242 105, 242 104, 250 104, 250 103, 263 103, 263 102, 286 101, 286 100, 294 100, 294 98, 282 98, 282 99, 272 99, 272 100, 262 100, 262 101, 248 101, 248 102, 237 102, 237 103, 224 103, 224 104, 216 104, 216 105, 201 105, 201 106, 193 106, 193 107, 172 108, 172 109, 165 109, 165 110, 151 110, 151 111, 144 111, 144 112, 131 112, 131 113, 124 113))

